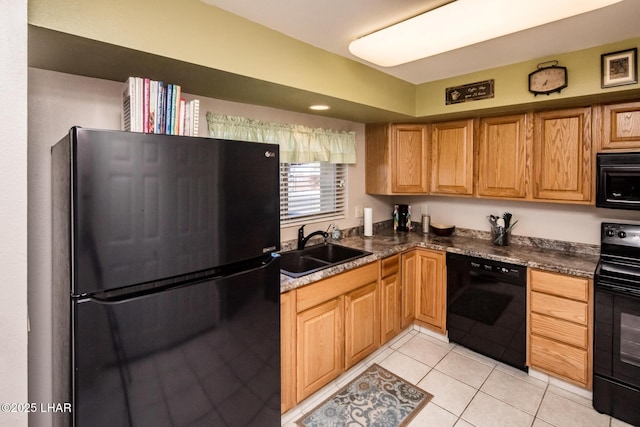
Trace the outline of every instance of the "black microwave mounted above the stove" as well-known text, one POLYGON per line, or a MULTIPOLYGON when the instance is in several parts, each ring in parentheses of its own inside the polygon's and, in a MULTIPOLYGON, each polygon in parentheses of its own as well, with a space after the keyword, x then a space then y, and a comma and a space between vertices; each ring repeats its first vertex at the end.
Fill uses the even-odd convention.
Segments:
POLYGON ((640 153, 598 153, 596 206, 640 210, 640 153))

